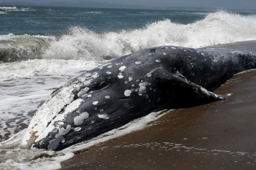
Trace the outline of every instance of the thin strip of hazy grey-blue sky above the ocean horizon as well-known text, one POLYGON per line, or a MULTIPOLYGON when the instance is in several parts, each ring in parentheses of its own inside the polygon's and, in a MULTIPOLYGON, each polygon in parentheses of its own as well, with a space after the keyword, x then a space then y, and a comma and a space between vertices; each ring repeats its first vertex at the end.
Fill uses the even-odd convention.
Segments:
POLYGON ((74 1, 91 1, 117 4, 129 4, 151 7, 208 7, 208 8, 249 8, 256 9, 256 0, 0 0, 0 2, 30 2, 30 3, 47 3, 47 2, 74 2, 74 1))

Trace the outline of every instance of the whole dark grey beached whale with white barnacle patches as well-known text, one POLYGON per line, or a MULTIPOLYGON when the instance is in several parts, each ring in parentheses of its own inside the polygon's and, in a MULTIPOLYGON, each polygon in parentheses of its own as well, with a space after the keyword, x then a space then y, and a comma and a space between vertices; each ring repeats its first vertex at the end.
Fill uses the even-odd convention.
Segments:
POLYGON ((61 150, 153 111, 225 99, 211 91, 250 68, 250 51, 163 46, 128 54, 56 89, 22 144, 61 150))

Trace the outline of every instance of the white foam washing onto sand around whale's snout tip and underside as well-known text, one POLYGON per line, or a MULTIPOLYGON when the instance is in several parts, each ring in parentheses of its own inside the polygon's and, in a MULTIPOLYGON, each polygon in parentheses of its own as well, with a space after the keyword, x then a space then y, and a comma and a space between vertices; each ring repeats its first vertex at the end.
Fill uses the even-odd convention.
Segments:
MULTIPOLYGON (((171 111, 171 110, 170 110, 171 111)), ((54 152, 54 151, 44 151, 44 150, 29 150, 24 149, 18 146, 18 143, 23 138, 24 131, 20 131, 12 139, 9 139, 6 142, 0 143, 0 151, 8 150, 9 157, 4 160, 0 159, 0 169, 4 170, 55 170, 61 168, 61 162, 73 158, 75 151, 83 150, 84 148, 99 144, 101 142, 106 142, 108 140, 123 136, 125 134, 134 132, 136 130, 141 130, 148 125, 148 123, 159 119, 161 116, 169 113, 169 111, 158 111, 150 113, 147 116, 141 117, 134 121, 129 122, 128 124, 113 129, 109 132, 103 133, 89 141, 81 142, 70 146, 64 150, 54 152), (15 145, 15 146, 13 146, 15 145), (43 155, 48 155, 49 157, 44 157, 43 155), (12 157, 13 156, 13 157, 12 157), (15 158, 19 159, 15 159, 15 158), (39 158, 37 158, 39 157, 39 158), (37 159, 35 159, 37 158, 37 159)))

